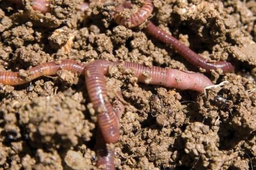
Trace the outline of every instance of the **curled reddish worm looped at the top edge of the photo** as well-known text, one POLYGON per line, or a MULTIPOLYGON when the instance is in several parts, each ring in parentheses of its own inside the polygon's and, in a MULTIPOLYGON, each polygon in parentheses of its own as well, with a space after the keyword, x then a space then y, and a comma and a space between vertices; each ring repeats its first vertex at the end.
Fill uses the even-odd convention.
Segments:
POLYGON ((125 18, 120 14, 124 8, 131 7, 131 2, 124 2, 122 5, 119 5, 115 8, 113 18, 119 25, 125 26, 127 28, 137 27, 151 15, 154 8, 152 0, 145 0, 143 6, 129 18, 125 18))

